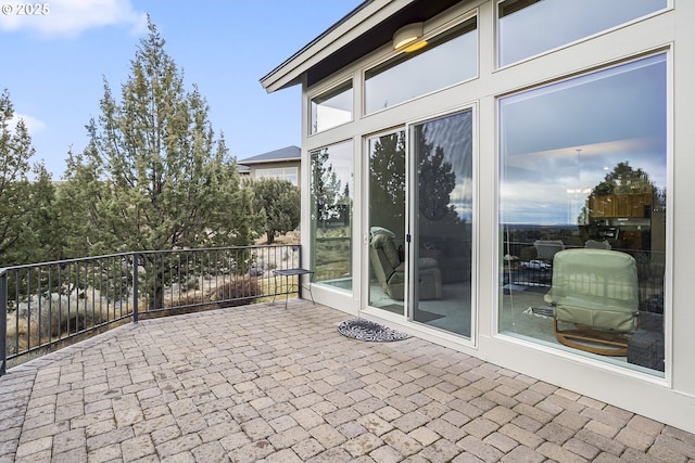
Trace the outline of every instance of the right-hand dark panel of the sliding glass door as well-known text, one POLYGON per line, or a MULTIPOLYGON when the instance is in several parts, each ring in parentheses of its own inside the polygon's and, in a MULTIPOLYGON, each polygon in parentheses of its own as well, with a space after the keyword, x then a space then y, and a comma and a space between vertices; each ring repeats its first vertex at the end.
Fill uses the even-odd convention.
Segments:
POLYGON ((470 337, 472 111, 410 126, 416 322, 470 337))

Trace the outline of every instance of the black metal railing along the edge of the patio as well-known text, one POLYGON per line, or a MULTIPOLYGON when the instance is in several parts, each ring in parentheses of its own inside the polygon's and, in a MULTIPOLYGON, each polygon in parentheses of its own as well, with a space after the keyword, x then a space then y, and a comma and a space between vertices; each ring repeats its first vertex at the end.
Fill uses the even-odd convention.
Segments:
POLYGON ((273 270, 301 267, 300 245, 112 254, 0 269, 0 375, 9 363, 140 318, 253 304, 296 293, 273 270), (291 291, 290 291, 291 290, 291 291))

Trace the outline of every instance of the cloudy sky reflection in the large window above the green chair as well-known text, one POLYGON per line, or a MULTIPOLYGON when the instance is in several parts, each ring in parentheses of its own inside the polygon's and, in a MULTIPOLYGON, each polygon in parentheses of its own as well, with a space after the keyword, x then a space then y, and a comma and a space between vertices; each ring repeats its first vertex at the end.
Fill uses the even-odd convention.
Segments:
POLYGON ((568 192, 621 162, 665 189, 666 89, 660 54, 502 99, 502 222, 576 224, 568 192))

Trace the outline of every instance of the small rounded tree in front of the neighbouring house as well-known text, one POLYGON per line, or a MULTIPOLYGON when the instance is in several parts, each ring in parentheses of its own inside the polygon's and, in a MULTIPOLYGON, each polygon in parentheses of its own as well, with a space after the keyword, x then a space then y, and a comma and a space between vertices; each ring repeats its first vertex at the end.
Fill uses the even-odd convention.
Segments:
POLYGON ((256 213, 265 216, 263 231, 267 244, 276 234, 285 234, 300 224, 300 191, 291 182, 278 179, 260 179, 252 182, 256 213))

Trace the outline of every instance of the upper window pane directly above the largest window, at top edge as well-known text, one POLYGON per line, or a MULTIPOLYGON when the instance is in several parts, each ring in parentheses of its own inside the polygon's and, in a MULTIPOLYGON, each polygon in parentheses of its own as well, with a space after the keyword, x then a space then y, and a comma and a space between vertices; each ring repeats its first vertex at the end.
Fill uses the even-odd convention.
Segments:
POLYGON ((501 66, 666 8, 667 0, 506 0, 500 3, 501 66))

